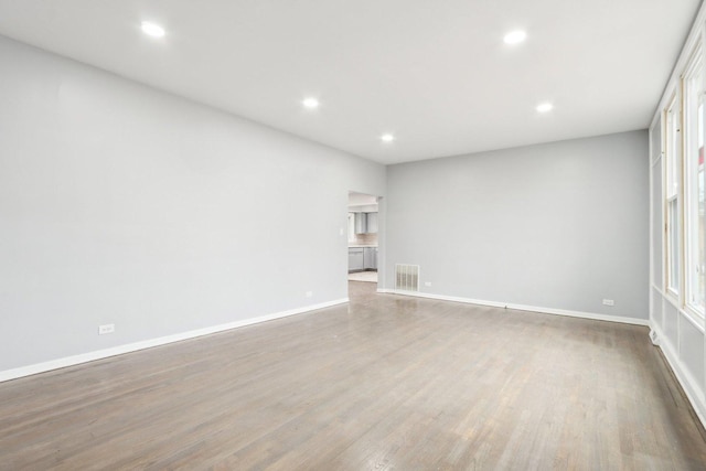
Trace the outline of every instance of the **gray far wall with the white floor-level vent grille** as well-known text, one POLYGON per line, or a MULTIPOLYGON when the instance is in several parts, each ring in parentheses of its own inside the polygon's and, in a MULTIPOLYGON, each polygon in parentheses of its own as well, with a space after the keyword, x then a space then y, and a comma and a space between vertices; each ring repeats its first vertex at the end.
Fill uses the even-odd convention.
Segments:
POLYGON ((648 142, 640 130, 388 167, 385 288, 414 264, 422 293, 646 320, 648 142))

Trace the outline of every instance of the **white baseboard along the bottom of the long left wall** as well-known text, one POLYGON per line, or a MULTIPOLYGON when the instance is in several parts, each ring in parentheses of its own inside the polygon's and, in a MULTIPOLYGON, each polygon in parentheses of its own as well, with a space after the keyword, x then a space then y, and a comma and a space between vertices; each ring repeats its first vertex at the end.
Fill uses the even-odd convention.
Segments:
POLYGON ((24 376, 35 375, 52 370, 65 368, 81 363, 93 362, 96 360, 107 358, 109 356, 121 355, 124 353, 136 352, 138 350, 151 349, 153 346, 165 345, 168 343, 180 342, 182 340, 194 339, 197 336, 208 335, 212 333, 223 332, 231 329, 237 329, 245 325, 252 325, 259 322, 267 322, 275 319, 281 319, 289 315, 301 314, 304 312, 315 311, 318 309, 330 308, 332 306, 349 302, 349 298, 338 299, 334 301, 322 302, 320 304, 306 306, 303 308, 290 309, 288 311, 276 312, 274 314, 260 315, 257 318, 245 319, 242 321, 228 322, 226 324, 212 325, 208 328, 197 329, 189 332, 181 332, 173 335, 160 336, 157 339, 145 340, 141 342, 128 343, 125 345, 114 346, 111 349, 97 350, 95 352, 82 353, 79 355, 65 356, 63 358, 52 360, 49 362, 36 363, 29 366, 22 366, 13 370, 0 372, 0 383, 17 379, 24 376))

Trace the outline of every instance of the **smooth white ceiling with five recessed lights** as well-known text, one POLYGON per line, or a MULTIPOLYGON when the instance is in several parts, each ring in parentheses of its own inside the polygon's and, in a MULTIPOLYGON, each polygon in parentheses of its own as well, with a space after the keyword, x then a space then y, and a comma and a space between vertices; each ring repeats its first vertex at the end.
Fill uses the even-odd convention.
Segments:
POLYGON ((395 163, 646 128, 699 3, 0 0, 0 34, 395 163))

